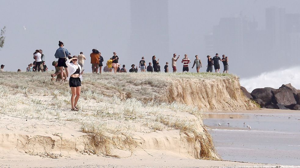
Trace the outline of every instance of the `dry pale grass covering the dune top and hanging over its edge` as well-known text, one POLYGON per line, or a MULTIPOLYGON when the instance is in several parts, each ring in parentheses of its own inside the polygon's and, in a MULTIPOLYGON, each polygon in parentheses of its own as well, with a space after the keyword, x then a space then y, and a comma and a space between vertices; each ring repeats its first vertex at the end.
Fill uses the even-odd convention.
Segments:
MULTIPOLYGON (((205 125, 204 134, 196 122, 204 119, 204 112, 197 107, 179 102, 166 103, 157 100, 141 101, 131 97, 121 99, 105 95, 99 86, 110 91, 124 91, 134 96, 134 90, 163 89, 169 78, 231 78, 230 74, 215 73, 137 73, 137 74, 84 74, 79 111, 70 113, 70 88, 68 82, 50 81, 50 73, 0 73, 0 116, 12 115, 34 118, 40 121, 75 122, 81 132, 94 135, 89 149, 107 156, 115 156, 112 149, 134 152, 135 132, 179 130, 186 139, 201 144, 200 158, 213 159, 217 154, 205 125), (119 83, 119 85, 117 84, 119 83), (88 85, 89 86, 85 86, 88 85), (145 86, 146 85, 146 86, 145 86), (172 111, 166 115, 165 111, 172 111), (197 118, 182 118, 179 114, 197 118), (112 124, 114 123, 114 124, 112 124), (117 124, 116 124, 117 123, 117 124)), ((156 93, 154 93, 156 94, 156 93)), ((158 94, 158 93, 157 93, 158 94)))

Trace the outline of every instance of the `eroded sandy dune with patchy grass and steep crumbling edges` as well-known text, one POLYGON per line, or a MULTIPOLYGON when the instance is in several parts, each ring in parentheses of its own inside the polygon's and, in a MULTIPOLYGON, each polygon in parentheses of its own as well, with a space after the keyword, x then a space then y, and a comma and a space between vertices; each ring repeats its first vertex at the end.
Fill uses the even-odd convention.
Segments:
MULTIPOLYGON (((135 81, 141 74, 86 74, 78 104, 80 110, 70 111, 68 83, 51 82, 48 75, 0 74, 0 153, 4 159, 19 155, 63 159, 85 155, 127 158, 141 153, 154 156, 152 153, 164 151, 183 159, 219 160, 211 135, 202 122, 203 109, 255 108, 241 94, 238 78, 234 76, 208 74, 213 78, 205 77, 208 84, 220 81, 236 85, 233 89, 224 85, 206 88, 217 92, 207 94, 206 98, 202 96, 198 108, 194 103, 190 104, 192 106, 183 103, 199 93, 193 90, 188 97, 180 87, 191 85, 190 88, 194 88, 192 84, 199 82, 201 76, 194 81, 195 77, 190 76, 193 74, 146 73, 146 81, 141 83, 135 81), (183 81, 175 86, 180 82, 178 77, 183 77, 183 81), (112 86, 111 78, 122 85, 112 86), (173 102, 172 94, 168 93, 170 88, 178 90, 176 95, 184 99, 173 102), (157 91, 151 94, 153 90, 157 91), (147 98, 148 94, 152 96, 147 98), (159 94, 162 95, 157 97, 159 94), (214 97, 216 94, 223 97, 214 97), (167 102, 163 102, 165 98, 167 102), (212 101, 204 102, 207 98, 212 101), (225 105, 217 105, 219 98, 226 98, 225 105), (226 108, 230 104, 233 108, 226 108)), ((194 99, 200 101, 200 97, 194 99)))

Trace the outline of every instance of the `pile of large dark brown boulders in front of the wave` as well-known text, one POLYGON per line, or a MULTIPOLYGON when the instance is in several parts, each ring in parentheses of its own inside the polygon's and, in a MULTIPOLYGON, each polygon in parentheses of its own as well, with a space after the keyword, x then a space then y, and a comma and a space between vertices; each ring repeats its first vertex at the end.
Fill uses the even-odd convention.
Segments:
POLYGON ((300 110, 300 90, 291 84, 283 84, 278 89, 271 87, 257 88, 250 95, 246 89, 243 92, 262 108, 300 110))

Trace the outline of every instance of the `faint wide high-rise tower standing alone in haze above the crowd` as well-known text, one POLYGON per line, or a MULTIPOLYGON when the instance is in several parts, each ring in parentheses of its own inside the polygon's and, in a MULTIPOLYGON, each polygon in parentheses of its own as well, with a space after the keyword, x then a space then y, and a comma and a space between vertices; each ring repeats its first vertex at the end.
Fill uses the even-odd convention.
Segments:
POLYGON ((130 54, 169 55, 168 1, 131 0, 130 54))

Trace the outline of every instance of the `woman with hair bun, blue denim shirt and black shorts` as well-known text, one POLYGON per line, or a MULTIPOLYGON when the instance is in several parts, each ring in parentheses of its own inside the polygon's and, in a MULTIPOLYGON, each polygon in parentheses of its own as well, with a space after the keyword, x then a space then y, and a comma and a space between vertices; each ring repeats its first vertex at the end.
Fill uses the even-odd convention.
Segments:
MULTIPOLYGON (((63 48, 63 46, 64 46, 63 42, 59 41, 58 46, 60 46, 60 48, 57 49, 56 53, 54 54, 55 58, 58 58, 57 66, 60 67, 61 72, 63 71, 63 67, 64 67, 66 70, 67 76, 69 76, 69 72, 67 69, 68 66, 66 65, 66 59, 70 55, 70 53, 67 49, 63 48)), ((62 73, 60 74, 60 77, 63 82, 63 74, 62 73)))

